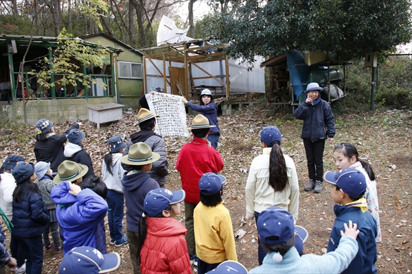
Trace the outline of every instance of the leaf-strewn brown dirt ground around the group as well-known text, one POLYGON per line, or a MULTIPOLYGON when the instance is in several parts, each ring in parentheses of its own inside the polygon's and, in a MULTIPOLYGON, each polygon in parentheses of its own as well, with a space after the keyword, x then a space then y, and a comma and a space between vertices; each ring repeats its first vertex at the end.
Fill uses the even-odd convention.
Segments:
MULTIPOLYGON (((333 105, 332 105, 333 110, 333 105)), ((106 153, 106 142, 113 135, 126 136, 137 131, 137 112, 125 112, 123 121, 111 123, 100 130, 82 121, 82 131, 86 134, 84 147, 91 154, 95 171, 100 172, 102 159, 106 153)), ((193 116, 188 117, 188 124, 193 116)), ((231 116, 219 116, 221 138, 218 151, 225 162, 222 175, 227 177, 224 188, 224 203, 231 213, 233 233, 243 229, 246 234, 236 240, 238 260, 247 269, 258 266, 258 234, 255 221, 244 219, 244 187, 251 161, 261 153, 258 133, 266 125, 276 125, 283 135, 284 153, 295 161, 299 178, 299 219, 297 225, 306 227, 309 238, 307 253, 321 255, 328 245, 330 230, 335 216, 334 202, 330 197, 330 186, 324 185, 323 192, 305 192, 308 182, 304 145, 300 138, 301 121, 290 114, 275 114, 270 105, 258 105, 236 110, 231 116)), ((382 242, 378 243, 379 273, 410 273, 412 271, 412 112, 410 110, 386 110, 336 116, 336 136, 334 144, 325 146, 325 171, 336 171, 332 163, 332 150, 339 142, 352 142, 361 158, 367 158, 377 175, 378 199, 380 205, 380 226, 382 242)), ((55 126, 64 132, 69 123, 55 126)), ((2 147, 0 158, 21 154, 27 161, 35 162, 34 128, 6 130, 10 135, 0 136, 2 147), (29 136, 24 144, 21 136, 29 136)), ((0 130, 0 131, 1 131, 0 130)), ((170 190, 181 188, 179 172, 174 168, 180 148, 189 138, 165 138, 168 160, 172 173, 166 185, 170 190)), ((182 206, 182 210, 184 210, 182 206)), ((184 223, 184 214, 176 217, 184 223)), ((126 219, 124 219, 124 222, 126 219)), ((5 225, 3 225, 5 229, 5 225)), ((108 229, 108 227, 107 227, 108 229)), ((5 229, 7 232, 7 229, 5 229)), ((108 232, 108 231, 107 231, 108 232)), ((8 233, 7 233, 8 234, 8 233)), ((108 236, 108 233, 107 233, 108 236)), ((109 242, 110 238, 106 238, 109 242)), ((122 256, 122 265, 116 273, 133 273, 128 246, 108 245, 108 252, 117 251, 122 256)), ((45 253, 43 273, 57 273, 62 254, 45 253)), ((196 273, 196 267, 194 268, 196 273)))

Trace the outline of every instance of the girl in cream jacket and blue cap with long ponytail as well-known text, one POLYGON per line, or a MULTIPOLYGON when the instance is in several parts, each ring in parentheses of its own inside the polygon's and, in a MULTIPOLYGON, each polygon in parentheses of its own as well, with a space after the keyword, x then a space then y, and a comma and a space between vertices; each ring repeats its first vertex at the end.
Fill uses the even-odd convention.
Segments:
MULTIPOLYGON (((246 218, 258 222, 259 213, 269 206, 288 210, 295 220, 299 210, 299 184, 295 163, 282 153, 282 134, 268 125, 259 133, 263 154, 255 157, 246 183, 246 218)), ((262 264, 266 251, 258 240, 258 260, 262 264)))

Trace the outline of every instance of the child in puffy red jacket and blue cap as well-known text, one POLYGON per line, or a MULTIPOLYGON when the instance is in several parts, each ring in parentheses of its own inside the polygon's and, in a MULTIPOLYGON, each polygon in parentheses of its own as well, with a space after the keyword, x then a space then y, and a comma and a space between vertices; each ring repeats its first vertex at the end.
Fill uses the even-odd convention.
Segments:
POLYGON ((185 190, 151 190, 144 199, 140 218, 139 249, 141 273, 192 273, 185 229, 174 217, 180 213, 185 190))

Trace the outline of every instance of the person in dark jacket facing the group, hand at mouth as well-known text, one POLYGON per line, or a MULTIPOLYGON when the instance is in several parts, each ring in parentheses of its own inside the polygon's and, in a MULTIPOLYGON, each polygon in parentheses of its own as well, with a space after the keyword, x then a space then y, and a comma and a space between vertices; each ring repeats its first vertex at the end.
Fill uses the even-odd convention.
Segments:
POLYGON ((323 189, 323 150, 325 140, 332 144, 335 135, 334 116, 327 101, 321 99, 323 88, 317 83, 310 83, 305 90, 306 101, 295 110, 295 117, 304 121, 301 138, 304 140, 306 159, 308 160, 309 184, 306 191, 314 188, 315 193, 323 189))

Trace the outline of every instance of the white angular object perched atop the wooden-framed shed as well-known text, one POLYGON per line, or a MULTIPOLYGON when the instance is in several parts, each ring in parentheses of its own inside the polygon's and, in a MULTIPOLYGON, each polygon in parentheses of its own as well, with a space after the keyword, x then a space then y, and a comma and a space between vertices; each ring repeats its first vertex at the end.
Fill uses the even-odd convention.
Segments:
MULTIPOLYGON (((174 24, 174 21, 168 16, 161 18, 159 29, 157 31, 157 46, 165 45, 166 43, 182 42, 187 40, 187 29, 179 29, 174 24)), ((191 39, 191 38, 190 38, 191 39)))

